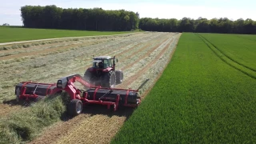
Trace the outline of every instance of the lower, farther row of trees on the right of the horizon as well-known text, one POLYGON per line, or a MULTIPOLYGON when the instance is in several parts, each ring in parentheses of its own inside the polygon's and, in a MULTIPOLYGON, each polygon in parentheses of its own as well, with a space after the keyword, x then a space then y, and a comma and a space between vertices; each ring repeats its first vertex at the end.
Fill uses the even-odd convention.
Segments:
POLYGON ((222 34, 256 34, 256 21, 250 18, 239 18, 232 21, 228 18, 141 18, 139 28, 149 31, 164 32, 198 32, 222 34))

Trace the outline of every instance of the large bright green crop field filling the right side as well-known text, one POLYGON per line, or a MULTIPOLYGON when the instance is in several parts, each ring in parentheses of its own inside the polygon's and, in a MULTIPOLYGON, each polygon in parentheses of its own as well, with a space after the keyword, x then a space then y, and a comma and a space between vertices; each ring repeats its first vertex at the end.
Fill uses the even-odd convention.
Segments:
POLYGON ((112 143, 256 142, 255 36, 183 33, 112 143))

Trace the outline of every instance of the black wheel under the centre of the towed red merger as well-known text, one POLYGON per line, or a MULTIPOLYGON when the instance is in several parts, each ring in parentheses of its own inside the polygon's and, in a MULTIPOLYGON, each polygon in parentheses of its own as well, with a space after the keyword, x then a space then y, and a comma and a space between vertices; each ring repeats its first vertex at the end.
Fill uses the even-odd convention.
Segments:
POLYGON ((82 101, 79 99, 73 99, 70 101, 68 112, 71 116, 76 116, 82 113, 82 101))

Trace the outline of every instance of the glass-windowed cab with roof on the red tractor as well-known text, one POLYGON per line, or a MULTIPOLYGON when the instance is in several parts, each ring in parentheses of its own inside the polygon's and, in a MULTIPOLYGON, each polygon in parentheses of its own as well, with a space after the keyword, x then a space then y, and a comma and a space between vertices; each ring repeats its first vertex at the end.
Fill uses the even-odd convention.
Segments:
POLYGON ((112 67, 114 69, 114 58, 111 58, 110 56, 94 57, 94 69, 106 69, 108 67, 112 67))

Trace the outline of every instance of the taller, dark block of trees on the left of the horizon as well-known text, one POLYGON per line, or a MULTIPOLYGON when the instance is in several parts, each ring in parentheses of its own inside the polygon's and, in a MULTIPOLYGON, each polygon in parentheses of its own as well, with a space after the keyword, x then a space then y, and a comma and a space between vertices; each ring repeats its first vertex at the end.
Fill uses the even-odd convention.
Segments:
POLYGON ((126 10, 22 6, 24 27, 68 30, 136 30, 138 13, 126 10))

